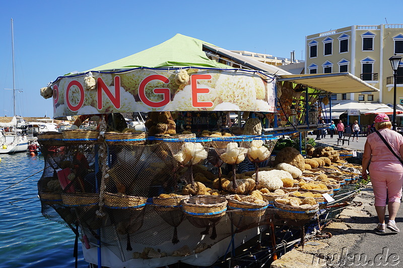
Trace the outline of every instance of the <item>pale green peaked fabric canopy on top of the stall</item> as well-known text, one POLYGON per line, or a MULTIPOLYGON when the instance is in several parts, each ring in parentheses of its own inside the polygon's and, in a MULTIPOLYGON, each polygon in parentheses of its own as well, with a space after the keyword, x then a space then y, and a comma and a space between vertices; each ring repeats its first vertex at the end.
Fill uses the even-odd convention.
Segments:
POLYGON ((106 63, 89 71, 119 70, 137 67, 161 68, 180 66, 231 68, 228 65, 209 59, 203 51, 203 44, 209 43, 196 38, 176 34, 171 39, 168 39, 157 46, 106 63))

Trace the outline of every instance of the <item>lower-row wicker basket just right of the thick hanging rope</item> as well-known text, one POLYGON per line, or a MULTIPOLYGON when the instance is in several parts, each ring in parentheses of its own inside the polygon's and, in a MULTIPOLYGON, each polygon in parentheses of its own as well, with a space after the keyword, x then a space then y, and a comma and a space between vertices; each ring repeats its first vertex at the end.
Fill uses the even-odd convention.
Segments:
POLYGON ((105 207, 111 209, 144 209, 147 198, 138 196, 126 196, 123 194, 105 193, 105 207))

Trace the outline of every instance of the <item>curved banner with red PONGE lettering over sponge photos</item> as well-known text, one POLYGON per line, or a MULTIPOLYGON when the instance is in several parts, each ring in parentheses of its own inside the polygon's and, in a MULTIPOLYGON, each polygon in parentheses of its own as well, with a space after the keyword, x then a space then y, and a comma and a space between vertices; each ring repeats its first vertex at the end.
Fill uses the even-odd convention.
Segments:
POLYGON ((87 90, 87 74, 60 77, 53 89, 54 117, 151 111, 275 111, 275 80, 258 72, 186 69, 186 84, 175 83, 175 70, 137 68, 92 72, 96 88, 87 90))

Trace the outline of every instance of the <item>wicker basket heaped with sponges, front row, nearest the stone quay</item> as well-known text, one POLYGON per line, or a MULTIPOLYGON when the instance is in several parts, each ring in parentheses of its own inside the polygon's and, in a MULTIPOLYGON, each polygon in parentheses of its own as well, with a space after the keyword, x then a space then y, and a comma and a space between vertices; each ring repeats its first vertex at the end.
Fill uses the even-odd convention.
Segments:
POLYGON ((309 197, 304 199, 298 197, 276 198, 273 205, 283 220, 311 220, 319 210, 316 200, 309 197))

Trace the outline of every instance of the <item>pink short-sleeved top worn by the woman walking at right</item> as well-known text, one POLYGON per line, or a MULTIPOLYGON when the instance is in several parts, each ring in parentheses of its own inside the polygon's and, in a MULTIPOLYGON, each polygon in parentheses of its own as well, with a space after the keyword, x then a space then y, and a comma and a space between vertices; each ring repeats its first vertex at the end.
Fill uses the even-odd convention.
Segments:
MULTIPOLYGON (((383 128, 378 131, 389 143, 393 151, 397 155, 400 155, 399 147, 403 144, 403 136, 388 128, 383 128)), ((371 169, 403 172, 403 166, 396 156, 386 147, 386 144, 381 140, 378 134, 375 132, 369 134, 367 142, 372 150, 371 163, 369 164, 371 169)))

